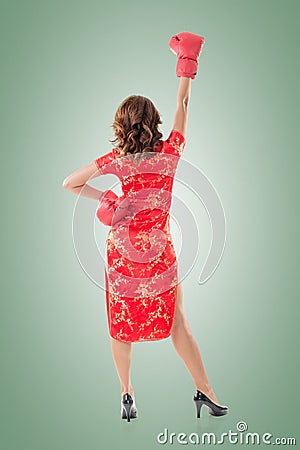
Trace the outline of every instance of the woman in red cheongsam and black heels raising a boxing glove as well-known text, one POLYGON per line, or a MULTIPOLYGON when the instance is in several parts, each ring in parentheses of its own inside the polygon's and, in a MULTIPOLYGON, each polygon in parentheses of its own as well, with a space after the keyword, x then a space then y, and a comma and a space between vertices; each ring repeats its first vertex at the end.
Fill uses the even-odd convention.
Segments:
POLYGON ((132 342, 169 336, 194 380, 197 417, 203 404, 214 416, 228 412, 227 406, 219 404, 209 383, 185 316, 169 228, 170 196, 157 195, 172 192, 177 163, 186 143, 191 80, 196 76, 203 44, 203 37, 189 32, 170 40, 170 49, 178 58, 179 87, 174 124, 166 140, 161 139, 158 126, 162 122, 152 101, 140 95, 127 97, 113 123, 116 139, 112 142, 119 142, 118 146, 63 183, 64 188, 77 195, 100 200, 97 215, 103 223, 112 224, 107 238, 106 306, 112 356, 121 386, 121 417, 128 422, 137 417, 130 379, 132 342), (107 173, 119 177, 122 200, 130 199, 123 203, 123 211, 121 198, 116 199, 112 191, 101 192, 87 184, 89 179, 107 173), (160 202, 151 204, 153 198, 160 202), (105 222, 112 210, 115 220, 105 222), (157 230, 160 234, 154 240, 152 234, 151 240, 150 232, 157 230), (157 251, 161 243, 163 246, 157 251), (158 279, 160 284, 156 283, 158 279))

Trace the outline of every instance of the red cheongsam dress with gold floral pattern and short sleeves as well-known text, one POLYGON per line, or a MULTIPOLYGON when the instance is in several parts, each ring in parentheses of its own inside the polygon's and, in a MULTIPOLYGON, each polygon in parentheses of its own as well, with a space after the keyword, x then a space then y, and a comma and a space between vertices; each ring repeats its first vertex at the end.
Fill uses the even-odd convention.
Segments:
POLYGON ((178 267, 169 212, 185 143, 173 129, 140 163, 115 149, 94 161, 101 174, 120 179, 131 205, 130 214, 113 223, 106 239, 108 327, 119 341, 154 341, 171 334, 178 267))

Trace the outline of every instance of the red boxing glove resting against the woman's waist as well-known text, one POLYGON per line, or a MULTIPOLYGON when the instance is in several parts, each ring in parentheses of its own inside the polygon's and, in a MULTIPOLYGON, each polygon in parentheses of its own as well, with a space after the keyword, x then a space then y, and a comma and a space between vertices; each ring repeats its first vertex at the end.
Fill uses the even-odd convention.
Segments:
POLYGON ((104 191, 99 199, 96 215, 104 225, 119 222, 129 212, 129 200, 122 195, 118 197, 111 190, 104 191))

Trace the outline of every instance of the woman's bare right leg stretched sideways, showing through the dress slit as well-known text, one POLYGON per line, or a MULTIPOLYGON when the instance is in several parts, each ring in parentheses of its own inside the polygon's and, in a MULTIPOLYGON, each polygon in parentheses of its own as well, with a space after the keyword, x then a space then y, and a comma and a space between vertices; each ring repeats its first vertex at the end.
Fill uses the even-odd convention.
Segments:
POLYGON ((181 283, 177 286, 176 309, 171 330, 171 338, 176 352, 183 359, 194 380, 196 389, 203 392, 210 400, 219 405, 217 397, 210 386, 205 373, 197 342, 192 335, 185 316, 181 283))

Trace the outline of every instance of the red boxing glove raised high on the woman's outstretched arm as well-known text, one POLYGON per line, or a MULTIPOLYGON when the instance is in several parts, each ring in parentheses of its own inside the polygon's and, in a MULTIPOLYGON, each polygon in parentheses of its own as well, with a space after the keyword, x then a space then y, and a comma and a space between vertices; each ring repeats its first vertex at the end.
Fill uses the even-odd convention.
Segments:
POLYGON ((198 59, 205 43, 203 36, 183 31, 172 36, 169 42, 171 51, 177 56, 176 75, 194 80, 198 70, 198 59))

